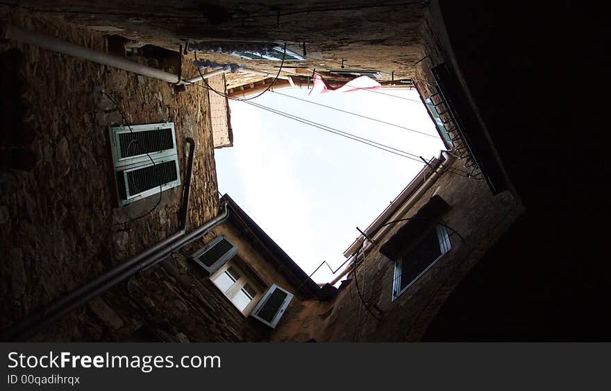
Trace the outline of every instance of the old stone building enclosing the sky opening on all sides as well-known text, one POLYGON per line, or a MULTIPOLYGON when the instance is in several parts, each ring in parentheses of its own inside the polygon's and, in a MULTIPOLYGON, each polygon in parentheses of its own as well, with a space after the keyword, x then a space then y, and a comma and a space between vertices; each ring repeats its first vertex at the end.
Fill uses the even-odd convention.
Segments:
MULTIPOLYGON (((316 72, 337 85, 367 73, 382 85, 418 89, 449 150, 428 162, 346 250, 346 281, 337 292, 313 284, 226 197, 225 223, 181 243, 178 252, 178 242, 160 246, 163 257, 171 254, 165 261, 151 254, 136 259, 133 277, 85 306, 76 305, 76 295, 71 311, 54 306, 58 321, 33 339, 608 339, 609 273, 599 229, 608 159, 596 131, 596 114, 605 111, 595 107, 593 67, 586 78, 564 55, 569 48, 595 53, 605 36, 583 8, 571 2, 524 12, 515 4, 469 1, 8 1, 0 11, 8 32, 0 43, 5 335, 19 335, 20 320, 26 320, 21 331, 33 330, 37 311, 54 299, 164 238, 181 241, 196 227, 203 234, 224 210, 213 154, 215 146, 233 142, 227 95, 308 87, 316 72), (201 83, 173 87, 40 49, 11 37, 6 26, 119 53, 176 75, 172 84, 218 70, 198 70, 196 56, 245 67, 224 72, 225 82, 210 78, 224 89, 213 97, 201 83), (567 92, 568 80, 581 80, 579 94, 567 92), (127 124, 169 123, 172 146, 157 157, 174 162, 174 184, 151 191, 156 184, 147 189, 153 195, 118 207, 128 190, 117 173, 131 166, 113 160, 112 134, 119 137, 127 124), (208 270, 210 278, 194 259, 221 236, 237 255, 208 270), (423 261, 407 261, 414 254, 423 261), (219 278, 232 265, 250 276, 244 282, 250 288, 231 284, 224 295, 219 278), (294 297, 272 329, 244 311, 256 315, 255 302, 265 304, 274 284, 294 297), (244 309, 237 298, 242 288, 251 298, 244 309)), ((167 162, 157 157, 147 158, 153 171, 167 162)))

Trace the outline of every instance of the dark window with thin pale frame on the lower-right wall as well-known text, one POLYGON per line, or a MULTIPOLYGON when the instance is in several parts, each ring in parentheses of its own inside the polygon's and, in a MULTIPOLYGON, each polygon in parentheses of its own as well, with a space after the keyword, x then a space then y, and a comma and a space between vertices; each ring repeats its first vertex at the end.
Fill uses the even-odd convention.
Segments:
POLYGON ((424 275, 451 248, 446 227, 437 225, 406 250, 394 265, 392 299, 396 299, 424 275))

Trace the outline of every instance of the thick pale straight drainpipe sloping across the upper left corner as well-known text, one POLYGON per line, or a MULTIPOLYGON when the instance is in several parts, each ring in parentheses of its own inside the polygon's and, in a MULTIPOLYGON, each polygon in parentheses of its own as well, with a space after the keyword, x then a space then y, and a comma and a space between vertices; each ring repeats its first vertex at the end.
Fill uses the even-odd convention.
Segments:
POLYGON ((15 40, 23 42, 24 44, 39 46, 42 49, 48 49, 66 55, 84 58, 85 60, 97 62, 98 64, 108 65, 108 67, 124 69, 125 71, 137 73, 142 76, 149 76, 150 78, 164 80, 172 84, 181 83, 181 80, 178 78, 178 76, 174 75, 174 73, 164 72, 156 68, 137 64, 116 55, 110 55, 101 51, 87 49, 83 46, 58 40, 57 38, 50 37, 49 35, 42 35, 32 31, 24 31, 10 25, 2 26, 0 33, 0 37, 6 40, 15 40))

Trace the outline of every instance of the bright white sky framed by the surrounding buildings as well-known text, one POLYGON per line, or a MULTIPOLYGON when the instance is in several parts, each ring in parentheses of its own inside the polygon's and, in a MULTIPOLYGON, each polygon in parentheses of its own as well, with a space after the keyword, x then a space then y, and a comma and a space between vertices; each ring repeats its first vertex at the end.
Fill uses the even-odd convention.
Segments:
MULTIPOLYGON (((415 90, 328 92, 311 98, 308 89, 278 92, 437 135, 415 90)), ((275 92, 252 102, 426 159, 443 148, 438 137, 275 92)), ((308 275, 322 261, 334 270, 340 266, 344 250, 359 236, 355 227, 365 229, 424 166, 244 102, 230 105, 234 146, 215 150, 219 191, 231 195, 308 275)), ((333 275, 323 266, 312 278, 328 282, 333 275)))

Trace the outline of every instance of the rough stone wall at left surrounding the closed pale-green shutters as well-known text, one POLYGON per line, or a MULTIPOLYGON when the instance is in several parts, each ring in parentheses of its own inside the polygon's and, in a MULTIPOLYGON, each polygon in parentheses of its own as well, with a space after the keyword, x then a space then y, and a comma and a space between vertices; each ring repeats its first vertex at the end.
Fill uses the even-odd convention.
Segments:
MULTIPOLYGON (((2 19, 14 26, 106 50, 103 33, 69 24, 61 17, 0 10, 2 19)), ((1 173, 2 329, 178 228, 176 212, 183 186, 163 192, 160 201, 153 195, 128 207, 113 205, 107 127, 123 123, 122 113, 132 124, 174 121, 181 182, 187 155, 183 141, 185 137, 196 141, 191 227, 215 216, 219 203, 205 89, 191 87, 176 94, 167 82, 26 44, 6 41, 0 45, 1 51, 17 49, 23 53, 23 64, 14 65, 24 88, 22 96, 14 98, 22 98, 31 107, 24 123, 34 134, 28 148, 37 156, 30 170, 1 173)), ((133 60, 149 63, 147 58, 133 60)), ((183 71, 195 73, 186 60, 183 71)), ((108 295, 108 302, 106 296, 94 300, 44 329, 35 339, 113 339, 112 335, 126 335, 140 327, 139 320, 123 318, 122 311, 112 304, 112 297, 120 297, 123 303, 119 308, 140 311, 134 303, 124 301, 124 290, 117 287, 108 295), (112 315, 113 310, 119 313, 118 318, 112 315), (125 331, 112 334, 122 329, 125 331)))

